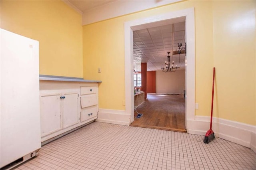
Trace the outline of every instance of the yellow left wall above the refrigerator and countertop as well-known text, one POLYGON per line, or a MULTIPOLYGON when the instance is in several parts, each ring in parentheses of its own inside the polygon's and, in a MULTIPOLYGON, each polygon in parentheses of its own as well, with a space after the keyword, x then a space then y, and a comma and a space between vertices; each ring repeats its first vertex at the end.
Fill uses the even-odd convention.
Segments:
POLYGON ((0 27, 39 41, 40 74, 83 77, 82 16, 62 1, 1 0, 0 27))

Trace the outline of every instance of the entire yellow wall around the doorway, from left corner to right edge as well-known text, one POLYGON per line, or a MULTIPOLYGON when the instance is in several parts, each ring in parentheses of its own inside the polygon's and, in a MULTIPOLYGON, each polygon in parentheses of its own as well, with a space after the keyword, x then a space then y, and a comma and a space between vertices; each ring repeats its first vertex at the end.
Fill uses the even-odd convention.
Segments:
POLYGON ((212 67, 216 67, 214 116, 256 125, 256 1, 190 0, 83 26, 84 78, 102 80, 100 108, 125 109, 124 22, 191 7, 195 7, 196 103, 200 108, 196 115, 210 115, 212 67), (251 24, 244 26, 242 16, 251 24), (241 28, 232 30, 232 23, 241 28), (98 67, 102 73, 97 73, 98 67))

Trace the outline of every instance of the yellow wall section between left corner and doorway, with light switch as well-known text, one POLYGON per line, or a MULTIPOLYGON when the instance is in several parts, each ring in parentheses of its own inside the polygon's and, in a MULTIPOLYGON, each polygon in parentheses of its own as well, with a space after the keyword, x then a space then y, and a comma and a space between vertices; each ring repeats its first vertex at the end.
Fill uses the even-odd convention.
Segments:
POLYGON ((86 26, 83 30, 84 79, 102 80, 99 85, 101 109, 124 110, 123 27, 123 22, 109 20, 86 26), (98 73, 98 67, 101 73, 98 73))

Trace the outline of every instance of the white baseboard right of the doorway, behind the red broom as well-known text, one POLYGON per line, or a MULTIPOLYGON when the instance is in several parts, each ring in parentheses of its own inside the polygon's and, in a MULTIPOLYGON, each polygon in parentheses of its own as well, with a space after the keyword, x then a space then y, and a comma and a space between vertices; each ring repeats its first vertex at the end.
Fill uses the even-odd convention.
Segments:
MULTIPOLYGON (((205 135, 210 128, 210 117, 196 116, 195 120, 189 120, 187 130, 190 134, 205 135)), ((212 130, 216 137, 251 148, 256 152, 256 126, 213 118, 212 130)))

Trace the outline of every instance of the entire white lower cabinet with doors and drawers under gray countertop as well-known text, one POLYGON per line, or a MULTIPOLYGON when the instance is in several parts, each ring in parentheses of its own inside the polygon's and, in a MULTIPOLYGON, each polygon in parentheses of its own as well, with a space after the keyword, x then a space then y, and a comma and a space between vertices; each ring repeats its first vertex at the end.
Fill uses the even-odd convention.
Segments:
POLYGON ((98 118, 98 83, 40 80, 40 115, 41 142, 91 123, 98 118))

